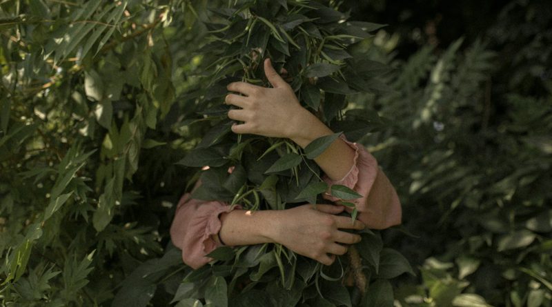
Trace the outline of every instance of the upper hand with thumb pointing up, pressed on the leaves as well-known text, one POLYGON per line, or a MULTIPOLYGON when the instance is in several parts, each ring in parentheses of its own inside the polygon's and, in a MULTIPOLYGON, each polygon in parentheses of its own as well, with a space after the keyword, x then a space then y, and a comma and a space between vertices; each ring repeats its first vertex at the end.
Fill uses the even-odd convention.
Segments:
POLYGON ((243 122, 232 126, 232 131, 293 139, 312 115, 299 104, 293 89, 278 75, 270 59, 264 61, 264 72, 273 88, 246 82, 228 84, 228 90, 241 94, 228 94, 225 99, 226 103, 241 108, 228 112, 230 119, 243 122))

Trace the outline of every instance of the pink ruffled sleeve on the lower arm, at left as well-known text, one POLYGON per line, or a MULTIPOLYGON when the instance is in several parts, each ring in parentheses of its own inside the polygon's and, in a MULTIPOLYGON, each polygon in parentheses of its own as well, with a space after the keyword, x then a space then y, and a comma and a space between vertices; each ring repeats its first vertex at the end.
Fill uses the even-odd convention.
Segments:
POLYGON ((170 239, 182 250, 184 263, 197 269, 213 260, 206 255, 220 245, 212 237, 221 228, 219 215, 234 208, 222 201, 192 199, 189 193, 181 197, 170 226, 170 239))

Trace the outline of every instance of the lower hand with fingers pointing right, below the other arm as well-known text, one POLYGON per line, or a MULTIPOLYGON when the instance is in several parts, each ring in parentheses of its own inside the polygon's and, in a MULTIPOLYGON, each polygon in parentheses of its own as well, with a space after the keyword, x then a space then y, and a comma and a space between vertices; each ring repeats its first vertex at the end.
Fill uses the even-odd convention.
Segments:
POLYGON ((355 244, 361 238, 339 229, 364 228, 361 221, 353 223, 351 217, 337 216, 343 209, 343 206, 303 205, 277 211, 280 216, 272 239, 299 255, 329 266, 335 261, 335 255, 347 252, 342 244, 355 244))

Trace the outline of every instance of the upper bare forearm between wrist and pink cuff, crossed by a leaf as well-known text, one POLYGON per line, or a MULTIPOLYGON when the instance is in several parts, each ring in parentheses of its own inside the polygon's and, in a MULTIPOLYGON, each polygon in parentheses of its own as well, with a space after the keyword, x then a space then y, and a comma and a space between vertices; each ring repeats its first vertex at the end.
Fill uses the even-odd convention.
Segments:
MULTIPOLYGON (((333 131, 319 121, 315 115, 307 110, 297 115, 296 133, 290 137, 297 145, 305 148, 311 141, 325 135, 331 135, 333 131)), ((342 139, 336 139, 331 146, 326 148, 321 155, 315 158, 315 162, 322 168, 324 173, 334 181, 338 181, 347 175, 353 167, 355 151, 342 139)))

